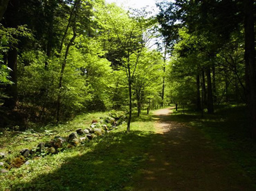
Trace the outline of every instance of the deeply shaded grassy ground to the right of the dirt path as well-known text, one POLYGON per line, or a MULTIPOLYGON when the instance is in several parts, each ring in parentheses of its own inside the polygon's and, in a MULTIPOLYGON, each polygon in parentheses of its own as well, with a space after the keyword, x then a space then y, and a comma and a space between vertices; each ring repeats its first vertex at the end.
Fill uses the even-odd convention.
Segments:
POLYGON ((201 130, 205 137, 238 163, 256 184, 256 142, 250 139, 244 106, 219 106, 215 114, 204 114, 185 109, 174 111, 172 121, 188 123, 201 130))

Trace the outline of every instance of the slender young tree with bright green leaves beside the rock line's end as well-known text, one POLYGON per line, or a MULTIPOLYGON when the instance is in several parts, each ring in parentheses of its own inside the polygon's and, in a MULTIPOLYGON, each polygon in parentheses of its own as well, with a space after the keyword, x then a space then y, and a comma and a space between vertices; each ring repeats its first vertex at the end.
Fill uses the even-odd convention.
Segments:
POLYGON ((108 5, 104 12, 99 12, 98 19, 102 23, 105 39, 115 41, 117 48, 122 51, 119 62, 127 75, 129 90, 127 132, 129 132, 132 111, 132 83, 141 59, 141 52, 145 49, 145 43, 148 41, 146 30, 149 22, 142 17, 137 19, 130 17, 113 3, 108 5))

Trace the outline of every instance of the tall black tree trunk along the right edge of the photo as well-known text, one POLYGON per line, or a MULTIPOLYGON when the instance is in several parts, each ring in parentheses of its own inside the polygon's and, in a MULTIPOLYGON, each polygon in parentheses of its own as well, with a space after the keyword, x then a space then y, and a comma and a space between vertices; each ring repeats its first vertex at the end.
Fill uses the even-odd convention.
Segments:
POLYGON ((256 139, 256 71, 255 71, 255 31, 253 18, 253 0, 244 0, 244 32, 246 61, 246 95, 250 113, 251 136, 256 139))

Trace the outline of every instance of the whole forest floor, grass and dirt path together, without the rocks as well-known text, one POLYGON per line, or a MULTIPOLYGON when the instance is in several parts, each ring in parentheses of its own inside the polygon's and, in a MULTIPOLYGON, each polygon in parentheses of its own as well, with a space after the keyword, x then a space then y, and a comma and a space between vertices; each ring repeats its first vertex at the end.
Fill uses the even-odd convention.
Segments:
MULTIPOLYGON (((0 132, 0 152, 7 153, 0 162, 11 165, 19 150, 88 128, 107 114, 35 129, 42 136, 0 132)), ((58 154, 28 157, 28 164, 0 173, 0 190, 256 190, 256 143, 246 123, 243 105, 223 105, 204 117, 188 108, 143 110, 140 117, 134 113, 129 133, 123 123, 58 154)))

